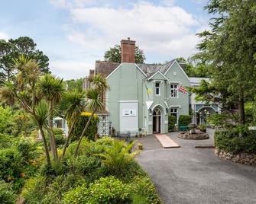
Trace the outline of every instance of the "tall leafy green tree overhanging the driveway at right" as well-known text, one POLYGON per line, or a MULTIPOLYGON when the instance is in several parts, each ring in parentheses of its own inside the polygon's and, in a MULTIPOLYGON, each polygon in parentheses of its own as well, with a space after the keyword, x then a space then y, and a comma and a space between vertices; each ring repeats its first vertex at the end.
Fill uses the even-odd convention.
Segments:
POLYGON ((256 91, 256 2, 211 0, 206 9, 215 18, 210 30, 199 33, 203 40, 196 57, 209 65, 211 83, 203 81, 194 91, 223 107, 233 104, 239 110, 239 123, 245 124, 245 103, 256 91))

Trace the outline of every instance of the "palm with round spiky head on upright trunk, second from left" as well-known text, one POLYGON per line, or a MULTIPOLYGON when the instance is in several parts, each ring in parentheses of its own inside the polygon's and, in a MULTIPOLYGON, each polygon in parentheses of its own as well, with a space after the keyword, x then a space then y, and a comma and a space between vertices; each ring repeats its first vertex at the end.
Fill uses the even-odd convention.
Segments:
POLYGON ((54 161, 58 160, 57 145, 53 134, 53 110, 57 103, 60 102, 65 87, 63 79, 57 78, 50 74, 45 74, 37 83, 39 93, 47 100, 49 106, 48 132, 50 147, 52 149, 54 161))

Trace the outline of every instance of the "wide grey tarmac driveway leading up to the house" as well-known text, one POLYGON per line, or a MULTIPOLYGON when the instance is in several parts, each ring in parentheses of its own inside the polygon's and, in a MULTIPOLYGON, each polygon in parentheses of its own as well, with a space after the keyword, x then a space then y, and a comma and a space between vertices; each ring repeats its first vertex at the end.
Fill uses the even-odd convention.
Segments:
POLYGON ((154 135, 138 139, 144 151, 138 157, 157 186, 164 203, 256 203, 256 167, 221 161, 210 139, 192 141, 168 134, 180 148, 163 149, 154 135))

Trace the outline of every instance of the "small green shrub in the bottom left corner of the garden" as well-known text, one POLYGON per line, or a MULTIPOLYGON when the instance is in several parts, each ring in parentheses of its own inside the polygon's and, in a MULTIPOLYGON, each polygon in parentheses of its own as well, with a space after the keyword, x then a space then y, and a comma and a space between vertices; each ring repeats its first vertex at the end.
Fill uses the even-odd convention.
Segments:
POLYGON ((15 192, 11 189, 10 183, 5 183, 4 180, 0 180, 0 201, 2 204, 15 203, 15 192))

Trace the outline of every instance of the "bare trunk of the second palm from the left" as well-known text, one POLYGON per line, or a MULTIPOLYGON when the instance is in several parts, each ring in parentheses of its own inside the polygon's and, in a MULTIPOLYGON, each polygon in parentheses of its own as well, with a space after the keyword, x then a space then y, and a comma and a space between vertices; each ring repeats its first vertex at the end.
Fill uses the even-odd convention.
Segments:
POLYGON ((49 113, 50 113, 50 116, 48 117, 48 126, 49 126, 48 133, 49 133, 49 140, 50 140, 50 148, 53 154, 54 161, 57 161, 58 155, 57 155, 56 140, 53 134, 53 107, 51 102, 49 103, 49 113))

